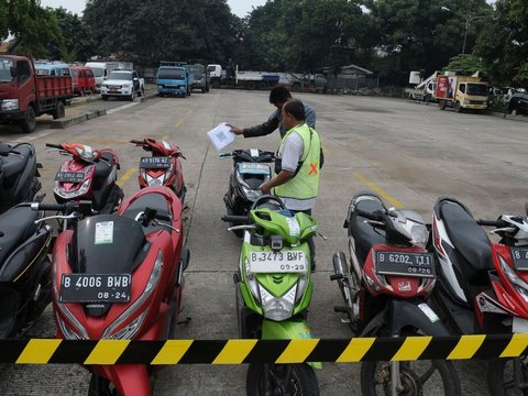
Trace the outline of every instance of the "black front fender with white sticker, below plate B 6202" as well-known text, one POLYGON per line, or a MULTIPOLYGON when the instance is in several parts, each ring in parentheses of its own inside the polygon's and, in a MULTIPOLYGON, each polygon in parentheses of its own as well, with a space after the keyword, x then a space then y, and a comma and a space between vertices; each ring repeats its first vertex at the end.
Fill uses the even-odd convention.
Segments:
POLYGON ((449 336, 438 315, 422 299, 392 299, 384 311, 374 317, 360 337, 372 337, 386 327, 389 334, 399 334, 406 327, 425 331, 428 336, 449 336))

